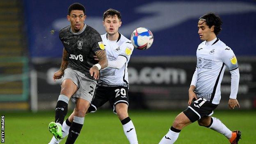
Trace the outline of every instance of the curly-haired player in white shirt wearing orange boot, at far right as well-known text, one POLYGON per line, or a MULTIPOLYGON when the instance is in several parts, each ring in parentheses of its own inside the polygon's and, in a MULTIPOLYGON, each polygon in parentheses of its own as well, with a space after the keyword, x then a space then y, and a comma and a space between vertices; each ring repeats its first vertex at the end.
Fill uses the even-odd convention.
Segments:
POLYGON ((199 18, 197 28, 203 42, 197 48, 197 67, 189 89, 189 106, 178 114, 159 144, 173 144, 181 129, 195 121, 198 121, 199 126, 222 133, 231 144, 238 144, 241 132, 232 132, 219 119, 211 117, 221 98, 220 84, 226 67, 231 73, 229 107, 240 107, 236 99, 239 85, 238 62, 233 50, 216 37, 222 30, 221 25, 222 20, 214 13, 199 18))

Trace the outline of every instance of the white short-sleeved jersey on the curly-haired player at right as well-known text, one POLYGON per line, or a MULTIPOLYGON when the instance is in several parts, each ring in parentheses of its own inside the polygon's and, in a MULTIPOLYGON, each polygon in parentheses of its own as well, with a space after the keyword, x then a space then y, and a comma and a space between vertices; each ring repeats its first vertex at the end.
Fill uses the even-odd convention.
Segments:
POLYGON ((219 104, 220 84, 226 67, 229 71, 238 69, 238 62, 233 50, 225 43, 216 38, 213 44, 206 45, 206 41, 203 41, 198 46, 195 89, 198 98, 219 104))

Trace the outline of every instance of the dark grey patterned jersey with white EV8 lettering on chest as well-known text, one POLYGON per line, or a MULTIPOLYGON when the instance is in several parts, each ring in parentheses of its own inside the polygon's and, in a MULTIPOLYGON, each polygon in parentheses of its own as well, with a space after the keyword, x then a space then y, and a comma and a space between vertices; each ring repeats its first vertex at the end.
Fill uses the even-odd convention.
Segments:
POLYGON ((101 35, 89 25, 85 25, 80 32, 74 33, 69 25, 60 30, 59 39, 68 52, 68 67, 94 79, 89 74, 89 70, 98 63, 93 57, 95 52, 104 49, 101 35))

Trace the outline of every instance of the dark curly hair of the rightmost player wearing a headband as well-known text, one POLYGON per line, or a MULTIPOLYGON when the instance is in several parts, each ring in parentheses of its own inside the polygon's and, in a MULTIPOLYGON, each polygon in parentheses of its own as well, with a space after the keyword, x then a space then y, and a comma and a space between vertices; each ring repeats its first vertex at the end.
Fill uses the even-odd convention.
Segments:
POLYGON ((214 33, 216 36, 219 34, 219 32, 222 30, 221 25, 222 25, 222 20, 221 18, 213 13, 207 13, 199 18, 200 19, 205 19, 206 20, 206 25, 208 25, 209 28, 211 28, 214 25, 214 33))

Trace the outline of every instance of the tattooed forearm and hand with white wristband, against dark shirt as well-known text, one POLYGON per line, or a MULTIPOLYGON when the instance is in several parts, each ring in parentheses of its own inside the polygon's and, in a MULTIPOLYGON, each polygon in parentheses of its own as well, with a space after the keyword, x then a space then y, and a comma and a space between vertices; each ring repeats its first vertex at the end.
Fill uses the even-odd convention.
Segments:
POLYGON ((90 74, 93 76, 95 79, 99 78, 99 70, 104 69, 107 67, 107 55, 105 50, 98 50, 96 51, 96 56, 98 57, 98 64, 94 64, 94 66, 91 67, 90 69, 90 74))

